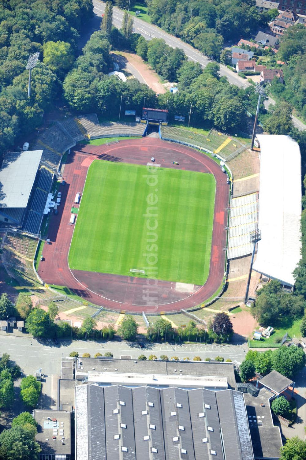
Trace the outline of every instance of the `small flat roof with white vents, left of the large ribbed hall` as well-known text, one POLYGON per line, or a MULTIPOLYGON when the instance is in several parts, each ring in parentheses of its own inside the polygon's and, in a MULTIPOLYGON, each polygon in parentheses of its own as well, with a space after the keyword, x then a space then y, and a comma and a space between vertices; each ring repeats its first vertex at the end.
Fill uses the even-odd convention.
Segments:
POLYGON ((71 413, 35 409, 34 418, 38 423, 38 432, 35 439, 40 443, 42 449, 40 454, 62 454, 70 456, 71 413), (52 419, 56 419, 56 421, 52 419))

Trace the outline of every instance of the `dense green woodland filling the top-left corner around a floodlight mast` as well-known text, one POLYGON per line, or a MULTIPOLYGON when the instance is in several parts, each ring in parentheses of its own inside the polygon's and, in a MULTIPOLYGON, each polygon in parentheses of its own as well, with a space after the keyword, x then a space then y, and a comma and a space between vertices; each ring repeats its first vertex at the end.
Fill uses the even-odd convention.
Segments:
POLYGON ((2 0, 0 8, 0 154, 40 126, 71 66, 91 0, 2 0), (28 99, 29 55, 40 52, 28 99), (42 61, 42 62, 41 62, 42 61))

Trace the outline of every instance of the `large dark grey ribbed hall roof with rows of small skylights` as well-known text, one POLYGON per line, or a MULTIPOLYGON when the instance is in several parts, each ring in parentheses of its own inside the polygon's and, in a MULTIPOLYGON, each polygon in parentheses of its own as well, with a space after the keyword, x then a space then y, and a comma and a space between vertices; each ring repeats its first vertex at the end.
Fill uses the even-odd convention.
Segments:
MULTIPOLYGON (((83 385, 76 387, 76 395, 83 390, 83 385)), ((243 395, 237 391, 88 384, 87 411, 83 406, 79 409, 78 401, 76 397, 77 427, 84 427, 82 417, 86 423, 88 418, 88 460, 211 460, 211 450, 220 460, 254 460, 243 395), (115 435, 120 439, 114 439, 115 435), (203 443, 203 438, 208 442, 203 443), (121 451, 122 446, 127 452, 121 451)), ((81 442, 78 433, 76 438, 81 442)))

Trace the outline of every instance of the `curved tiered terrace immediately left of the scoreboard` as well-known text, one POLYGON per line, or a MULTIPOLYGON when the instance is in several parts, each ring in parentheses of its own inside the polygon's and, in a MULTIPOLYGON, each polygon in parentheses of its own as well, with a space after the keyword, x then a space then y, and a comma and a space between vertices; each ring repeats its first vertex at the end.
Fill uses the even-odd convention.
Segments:
POLYGON ((141 123, 98 123, 96 114, 78 117, 86 136, 91 139, 113 136, 143 136, 146 125, 141 123), (94 116, 95 115, 95 116, 94 116))

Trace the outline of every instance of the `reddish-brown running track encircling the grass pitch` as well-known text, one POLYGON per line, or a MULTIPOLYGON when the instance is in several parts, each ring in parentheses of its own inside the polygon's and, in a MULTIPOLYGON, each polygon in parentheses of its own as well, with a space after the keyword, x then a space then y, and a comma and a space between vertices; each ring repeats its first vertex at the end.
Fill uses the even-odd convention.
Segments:
POLYGON ((189 309, 210 298, 221 285, 225 268, 223 248, 226 246, 229 186, 219 165, 196 150, 156 138, 131 139, 109 146, 85 145, 81 150, 79 148, 77 146, 68 156, 63 176, 66 185, 60 187, 61 205, 58 215, 51 215, 48 232, 51 244, 44 246, 45 260, 40 263, 38 270, 43 281, 65 286, 93 304, 111 310, 136 313, 189 309), (210 271, 206 283, 195 286, 193 293, 182 293, 175 290, 175 282, 158 281, 156 298, 149 295, 149 299, 144 300, 144 289, 147 285, 144 285, 143 278, 69 269, 68 253, 74 229, 73 225, 69 225, 69 219, 75 194, 83 190, 88 167, 94 159, 146 165, 152 155, 162 167, 213 173, 217 186, 210 271), (178 161, 179 166, 173 165, 173 161, 178 161))

